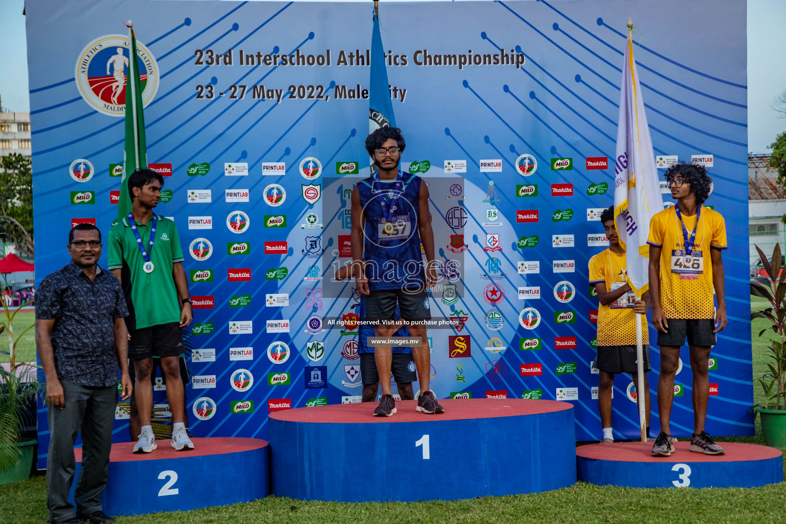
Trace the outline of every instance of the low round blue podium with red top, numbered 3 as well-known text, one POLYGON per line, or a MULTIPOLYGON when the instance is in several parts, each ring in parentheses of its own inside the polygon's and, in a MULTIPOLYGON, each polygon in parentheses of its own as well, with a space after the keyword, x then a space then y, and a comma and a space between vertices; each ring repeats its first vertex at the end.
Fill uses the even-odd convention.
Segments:
POLYGON ((652 456, 652 442, 582 445, 576 449, 578 480, 634 488, 752 488, 784 479, 783 454, 764 445, 718 442, 723 455, 689 451, 674 442, 671 456, 652 456))

